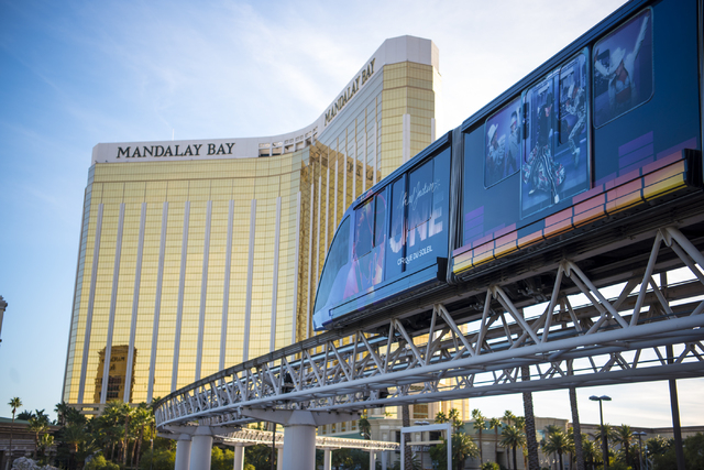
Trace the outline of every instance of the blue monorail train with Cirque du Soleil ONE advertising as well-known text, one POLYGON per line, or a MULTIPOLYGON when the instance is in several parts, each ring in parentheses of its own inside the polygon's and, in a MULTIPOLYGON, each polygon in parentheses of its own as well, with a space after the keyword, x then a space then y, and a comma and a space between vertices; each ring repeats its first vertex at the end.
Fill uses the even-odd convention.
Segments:
POLYGON ((314 328, 701 193, 703 8, 625 4, 358 198, 314 328))

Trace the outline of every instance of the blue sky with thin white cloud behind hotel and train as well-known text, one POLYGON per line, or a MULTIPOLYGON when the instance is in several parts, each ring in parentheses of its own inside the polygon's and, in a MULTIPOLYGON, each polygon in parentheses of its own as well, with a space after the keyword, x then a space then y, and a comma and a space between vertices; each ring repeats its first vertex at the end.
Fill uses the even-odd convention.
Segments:
MULTIPOLYGON (((0 416, 61 401, 95 144, 295 131, 404 34, 439 47, 444 132, 620 3, 0 0, 0 416)), ((702 384, 679 382, 683 424, 702 423, 702 384)), ((667 383, 581 390, 584 422, 605 393, 612 423, 670 423, 667 383)), ((569 417, 566 396, 536 394, 536 413, 569 417)), ((472 407, 522 414, 516 396, 472 407)))

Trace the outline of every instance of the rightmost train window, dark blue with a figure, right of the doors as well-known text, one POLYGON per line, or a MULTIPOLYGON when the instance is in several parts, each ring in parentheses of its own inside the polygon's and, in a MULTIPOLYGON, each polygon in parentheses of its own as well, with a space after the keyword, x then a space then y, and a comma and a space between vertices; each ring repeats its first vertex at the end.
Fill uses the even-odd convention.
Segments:
POLYGON ((594 45, 594 125, 652 96, 652 12, 646 9, 594 45))

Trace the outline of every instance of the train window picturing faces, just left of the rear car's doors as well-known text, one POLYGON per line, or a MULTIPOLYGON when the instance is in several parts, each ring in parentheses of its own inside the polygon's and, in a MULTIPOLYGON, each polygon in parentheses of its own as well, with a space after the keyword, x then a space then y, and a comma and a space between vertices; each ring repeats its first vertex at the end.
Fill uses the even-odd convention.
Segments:
POLYGON ((486 120, 484 186, 490 187, 518 172, 521 161, 520 97, 486 120))

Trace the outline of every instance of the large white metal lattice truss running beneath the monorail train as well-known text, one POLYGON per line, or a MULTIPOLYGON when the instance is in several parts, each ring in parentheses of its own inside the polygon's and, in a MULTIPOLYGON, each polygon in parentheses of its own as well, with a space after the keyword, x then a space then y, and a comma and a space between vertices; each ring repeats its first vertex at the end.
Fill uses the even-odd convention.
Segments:
MULTIPOLYGON (((672 263, 670 263, 672 265, 672 263)), ((675 228, 657 231, 638 276, 597 288, 563 260, 549 274, 548 302, 520 308, 509 282, 491 285, 473 315, 435 304, 429 327, 392 318, 384 335, 355 331, 297 354, 241 364, 166 397, 160 426, 255 420, 248 409, 323 413, 471 396, 704 375, 702 253, 675 228), (672 250, 689 281, 656 282, 658 255, 672 250), (569 292, 570 295, 566 295, 569 292), (580 300, 585 299, 585 300, 580 300), (586 305, 575 306, 576 302, 586 305), (537 311, 536 311, 537 310, 537 311)), ((274 356, 274 354, 272 354, 274 356)))

